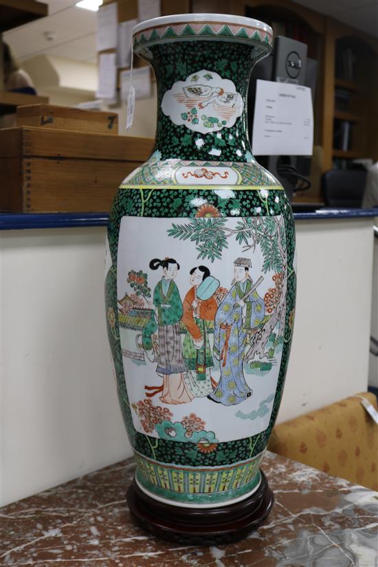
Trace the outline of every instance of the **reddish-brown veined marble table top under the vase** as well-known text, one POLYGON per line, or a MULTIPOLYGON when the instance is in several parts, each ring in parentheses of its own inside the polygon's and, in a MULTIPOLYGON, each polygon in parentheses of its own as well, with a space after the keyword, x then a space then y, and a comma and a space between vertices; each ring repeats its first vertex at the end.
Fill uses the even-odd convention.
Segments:
POLYGON ((137 527, 126 504, 133 458, 1 509, 2 566, 376 567, 378 493, 267 452, 276 502, 225 546, 179 546, 137 527))

